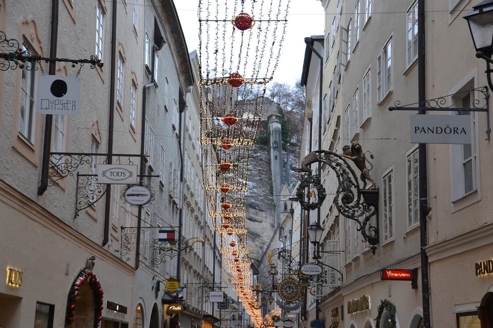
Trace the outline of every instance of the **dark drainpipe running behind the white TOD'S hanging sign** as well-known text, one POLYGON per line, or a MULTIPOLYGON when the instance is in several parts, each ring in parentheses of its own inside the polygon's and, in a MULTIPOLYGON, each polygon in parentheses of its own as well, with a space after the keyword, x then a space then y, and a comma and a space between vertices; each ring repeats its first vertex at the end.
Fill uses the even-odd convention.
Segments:
MULTIPOLYGON (((113 1, 111 8, 111 68, 109 73, 109 115, 108 115, 108 164, 112 164, 113 157, 113 125, 115 122, 115 66, 117 61, 117 2, 113 1)), ((104 246, 108 243, 109 221, 111 210, 111 184, 106 185, 106 198, 104 204, 104 246)))

